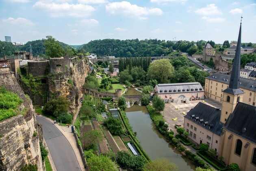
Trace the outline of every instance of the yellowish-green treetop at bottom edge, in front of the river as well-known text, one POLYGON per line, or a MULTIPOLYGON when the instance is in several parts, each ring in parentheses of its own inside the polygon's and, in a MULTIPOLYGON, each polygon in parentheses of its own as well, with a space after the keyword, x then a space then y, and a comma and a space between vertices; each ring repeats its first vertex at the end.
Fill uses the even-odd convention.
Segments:
POLYGON ((148 162, 143 168, 143 171, 178 171, 178 167, 166 158, 162 158, 148 162))

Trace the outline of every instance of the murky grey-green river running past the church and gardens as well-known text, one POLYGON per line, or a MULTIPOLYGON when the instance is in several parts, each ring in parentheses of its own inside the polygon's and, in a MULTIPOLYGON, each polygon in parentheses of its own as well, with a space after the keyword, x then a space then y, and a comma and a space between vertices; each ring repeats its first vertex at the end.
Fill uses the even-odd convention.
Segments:
POLYGON ((184 158, 165 141, 164 136, 158 132, 153 121, 150 119, 145 106, 133 105, 131 108, 126 108, 126 115, 132 130, 137 132, 137 138, 151 160, 167 158, 170 162, 178 165, 179 171, 195 169, 195 166, 189 159, 184 158))

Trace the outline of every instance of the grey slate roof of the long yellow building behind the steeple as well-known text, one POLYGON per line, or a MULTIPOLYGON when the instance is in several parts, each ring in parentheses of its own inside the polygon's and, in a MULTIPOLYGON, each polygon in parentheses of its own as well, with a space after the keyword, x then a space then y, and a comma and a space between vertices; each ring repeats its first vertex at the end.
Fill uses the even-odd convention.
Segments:
MULTIPOLYGON (((210 80, 215 80, 218 82, 226 83, 229 84, 230 81, 230 76, 226 74, 221 74, 221 73, 214 73, 208 77, 206 77, 210 80)), ((256 91, 256 81, 255 80, 250 80, 247 78, 240 78, 240 88, 251 90, 251 91, 256 91)))

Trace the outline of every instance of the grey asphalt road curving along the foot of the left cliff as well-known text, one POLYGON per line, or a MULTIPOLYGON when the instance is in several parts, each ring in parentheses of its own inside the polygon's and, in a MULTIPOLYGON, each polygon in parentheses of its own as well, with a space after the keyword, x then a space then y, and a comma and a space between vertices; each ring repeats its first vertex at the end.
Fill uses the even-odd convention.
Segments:
POLYGON ((75 153, 65 136, 50 121, 37 116, 57 171, 81 171, 75 153))

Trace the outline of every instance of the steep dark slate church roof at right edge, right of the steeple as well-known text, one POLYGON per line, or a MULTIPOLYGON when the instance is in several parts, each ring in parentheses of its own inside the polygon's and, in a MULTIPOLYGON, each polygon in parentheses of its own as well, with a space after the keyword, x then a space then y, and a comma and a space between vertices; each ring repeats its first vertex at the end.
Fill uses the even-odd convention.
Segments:
POLYGON ((256 144, 256 107, 239 102, 223 128, 256 144))

